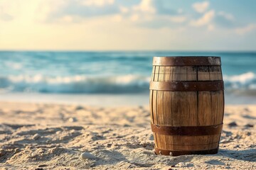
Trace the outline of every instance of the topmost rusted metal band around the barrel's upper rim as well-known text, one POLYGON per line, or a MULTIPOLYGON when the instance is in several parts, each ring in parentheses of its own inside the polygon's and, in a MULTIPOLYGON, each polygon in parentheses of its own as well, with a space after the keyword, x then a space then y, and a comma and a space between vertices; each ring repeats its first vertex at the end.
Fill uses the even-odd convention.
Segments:
POLYGON ((154 57, 153 65, 155 66, 220 66, 220 57, 212 56, 171 56, 171 57, 154 57))

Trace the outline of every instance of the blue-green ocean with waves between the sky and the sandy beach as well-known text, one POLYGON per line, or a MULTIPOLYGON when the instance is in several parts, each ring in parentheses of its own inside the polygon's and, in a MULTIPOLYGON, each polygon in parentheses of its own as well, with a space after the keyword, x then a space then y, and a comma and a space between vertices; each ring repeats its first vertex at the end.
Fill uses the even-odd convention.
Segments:
POLYGON ((256 52, 2 51, 0 99, 146 104, 152 57, 177 55, 221 57, 226 103, 256 103, 256 52))

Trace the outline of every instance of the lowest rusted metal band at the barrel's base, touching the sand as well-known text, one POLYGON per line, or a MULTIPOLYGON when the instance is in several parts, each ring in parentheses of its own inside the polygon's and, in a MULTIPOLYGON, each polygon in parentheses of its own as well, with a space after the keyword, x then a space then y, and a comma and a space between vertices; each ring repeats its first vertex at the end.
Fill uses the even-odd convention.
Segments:
POLYGON ((154 148, 155 154, 169 155, 169 156, 179 156, 184 154, 217 154, 218 148, 208 149, 208 150, 199 150, 199 151, 183 151, 183 150, 165 150, 154 148))

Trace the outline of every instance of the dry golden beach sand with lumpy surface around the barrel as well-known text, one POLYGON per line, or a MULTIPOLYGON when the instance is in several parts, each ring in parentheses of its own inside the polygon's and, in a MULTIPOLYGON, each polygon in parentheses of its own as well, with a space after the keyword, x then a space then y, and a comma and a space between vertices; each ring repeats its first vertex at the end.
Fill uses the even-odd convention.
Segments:
POLYGON ((256 106, 225 106, 214 155, 156 156, 149 123, 148 106, 0 102, 0 167, 256 169, 256 106), (97 159, 82 159, 83 152, 97 159))

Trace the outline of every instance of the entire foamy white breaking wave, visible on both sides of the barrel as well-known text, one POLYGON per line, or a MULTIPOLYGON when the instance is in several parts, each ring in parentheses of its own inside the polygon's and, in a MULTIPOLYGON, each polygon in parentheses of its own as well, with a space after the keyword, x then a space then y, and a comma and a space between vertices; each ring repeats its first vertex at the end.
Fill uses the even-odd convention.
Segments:
MULTIPOLYGON (((256 74, 224 76, 226 90, 255 91, 256 74)), ((0 93, 6 91, 39 92, 39 93, 71 93, 71 94, 127 94, 149 91, 150 77, 139 75, 120 75, 110 77, 87 77, 82 75, 70 77, 46 77, 18 75, 0 77, 0 93)))

